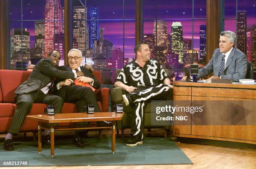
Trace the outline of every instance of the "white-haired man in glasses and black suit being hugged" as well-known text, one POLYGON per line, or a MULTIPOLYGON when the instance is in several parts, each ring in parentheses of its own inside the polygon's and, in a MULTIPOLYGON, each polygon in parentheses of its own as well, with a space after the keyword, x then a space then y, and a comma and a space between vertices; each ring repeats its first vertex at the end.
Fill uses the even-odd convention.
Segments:
MULTIPOLYGON (((68 72, 82 71, 83 76, 78 77, 78 82, 89 83, 95 89, 100 88, 100 82, 92 74, 92 70, 88 70, 85 67, 80 67, 82 58, 82 52, 78 49, 72 49, 68 53, 69 65, 60 66, 59 70, 68 72)), ((90 87, 77 86, 73 84, 72 79, 58 78, 54 85, 54 94, 60 96, 64 102, 74 103, 77 105, 78 112, 84 112, 84 106, 87 104, 94 105, 95 112, 101 112, 98 106, 95 93, 90 87)), ((84 124, 84 123, 83 123, 84 124)), ((75 132, 73 143, 77 147, 84 147, 84 142, 81 137, 83 132, 75 132)))

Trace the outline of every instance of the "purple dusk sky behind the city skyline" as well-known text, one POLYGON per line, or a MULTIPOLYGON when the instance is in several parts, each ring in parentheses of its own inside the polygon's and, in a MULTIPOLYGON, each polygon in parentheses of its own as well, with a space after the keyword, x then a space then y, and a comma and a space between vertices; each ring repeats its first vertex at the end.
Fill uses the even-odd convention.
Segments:
MULTIPOLYGON (((85 4, 85 0, 81 0, 85 4)), ((192 0, 144 1, 144 33, 153 34, 154 20, 166 20, 167 32, 171 33, 172 22, 181 22, 184 38, 192 39, 192 0)), ((225 0, 225 18, 236 17, 236 1, 225 0)), ((82 5, 79 0, 73 0, 74 6, 82 5)), ((26 27, 31 35, 31 47, 34 45, 34 20, 44 20, 44 6, 46 0, 23 0, 23 27, 26 27), (31 21, 32 20, 32 21, 31 21)), ((125 4, 125 44, 123 44, 123 1, 122 0, 87 0, 87 8, 97 6, 99 8, 100 27, 105 28, 104 38, 113 42, 115 47, 123 50, 125 57, 133 57, 135 43, 135 0, 124 0, 125 4), (113 20, 115 19, 115 20, 113 20)), ((194 18, 206 18, 206 0, 194 0, 194 18)), ((62 7, 64 6, 61 0, 62 7)), ((238 10, 246 10, 247 25, 256 25, 256 0, 238 0, 238 10)), ((10 20, 21 20, 21 0, 10 0, 10 20)), ((199 48, 199 26, 205 25, 206 20, 194 20, 194 48, 199 48)), ((10 28, 21 27, 21 22, 13 21, 10 28)), ((225 20, 225 30, 236 32, 236 20, 225 20)))

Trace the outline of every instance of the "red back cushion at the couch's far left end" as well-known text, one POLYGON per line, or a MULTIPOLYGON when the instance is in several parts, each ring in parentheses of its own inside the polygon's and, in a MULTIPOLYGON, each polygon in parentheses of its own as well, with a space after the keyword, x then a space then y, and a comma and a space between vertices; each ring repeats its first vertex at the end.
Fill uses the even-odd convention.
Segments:
POLYGON ((14 92, 17 87, 28 79, 31 72, 21 70, 0 70, 0 86, 3 102, 14 103, 14 92))

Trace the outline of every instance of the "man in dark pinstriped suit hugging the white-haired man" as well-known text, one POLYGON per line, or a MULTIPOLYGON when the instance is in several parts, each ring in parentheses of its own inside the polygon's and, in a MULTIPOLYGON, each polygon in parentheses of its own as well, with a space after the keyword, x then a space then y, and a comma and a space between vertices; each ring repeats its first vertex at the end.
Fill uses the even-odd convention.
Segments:
MULTIPOLYGON (((10 124, 8 134, 5 138, 5 150, 14 150, 12 139, 13 134, 18 134, 20 128, 30 112, 33 103, 51 104, 55 107, 55 113, 61 113, 63 99, 59 96, 48 94, 53 86, 54 78, 74 79, 79 73, 66 72, 58 70, 56 67, 59 64, 61 53, 54 50, 49 53, 49 58, 41 59, 34 67, 28 80, 23 82, 15 90, 15 100, 17 109, 15 111, 13 120, 10 124)), ((81 74, 81 73, 80 73, 81 74)), ((46 138, 49 140, 49 131, 45 131, 46 138)))

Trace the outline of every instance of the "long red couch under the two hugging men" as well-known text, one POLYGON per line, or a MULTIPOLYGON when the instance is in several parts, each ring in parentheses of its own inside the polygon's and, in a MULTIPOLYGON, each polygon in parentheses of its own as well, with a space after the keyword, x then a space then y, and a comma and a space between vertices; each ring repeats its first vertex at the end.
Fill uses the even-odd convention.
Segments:
MULTIPOLYGON (((14 102, 14 91, 16 88, 28 79, 31 74, 29 71, 20 70, 0 70, 0 133, 7 133, 10 122, 15 113, 16 104, 14 102)), ((94 71, 94 76, 101 83, 100 71, 94 71)), ((108 88, 100 88, 95 90, 98 104, 102 112, 108 112, 108 88)), ((34 103, 30 111, 32 114, 44 114, 46 104, 34 103)), ((77 112, 75 104, 64 103, 62 113, 77 112)), ((66 123, 67 124, 67 123, 66 123)), ((20 132, 31 132, 38 129, 38 124, 33 120, 25 120, 20 132)))

